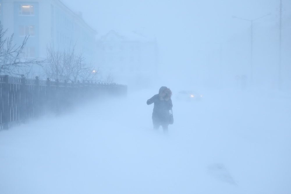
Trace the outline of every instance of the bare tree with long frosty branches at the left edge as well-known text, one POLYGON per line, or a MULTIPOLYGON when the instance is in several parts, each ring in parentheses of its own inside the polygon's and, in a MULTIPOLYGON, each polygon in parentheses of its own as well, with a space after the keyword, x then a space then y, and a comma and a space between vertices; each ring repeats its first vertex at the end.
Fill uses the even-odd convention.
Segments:
POLYGON ((29 36, 25 36, 22 44, 17 46, 13 43, 14 34, 6 37, 7 30, 0 21, 0 74, 16 76, 31 73, 31 66, 41 65, 44 60, 25 59, 22 54, 29 36))

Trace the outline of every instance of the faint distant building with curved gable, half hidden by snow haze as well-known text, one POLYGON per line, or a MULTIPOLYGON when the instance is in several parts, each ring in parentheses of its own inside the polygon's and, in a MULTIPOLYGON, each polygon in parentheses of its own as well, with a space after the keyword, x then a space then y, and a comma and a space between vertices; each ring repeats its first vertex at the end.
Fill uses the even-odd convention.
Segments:
POLYGON ((154 75, 158 65, 155 38, 135 32, 109 31, 97 38, 97 66, 112 74, 116 81, 127 82, 145 75, 154 75), (125 80, 124 78, 127 78, 125 80))

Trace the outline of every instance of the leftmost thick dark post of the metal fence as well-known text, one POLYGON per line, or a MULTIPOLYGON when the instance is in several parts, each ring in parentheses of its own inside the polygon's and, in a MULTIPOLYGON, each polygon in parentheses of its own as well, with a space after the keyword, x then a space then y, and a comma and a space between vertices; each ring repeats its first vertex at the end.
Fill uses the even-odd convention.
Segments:
POLYGON ((3 112, 2 112, 2 123, 3 129, 9 128, 9 83, 8 83, 8 75, 3 76, 3 88, 2 88, 2 99, 3 99, 3 112))

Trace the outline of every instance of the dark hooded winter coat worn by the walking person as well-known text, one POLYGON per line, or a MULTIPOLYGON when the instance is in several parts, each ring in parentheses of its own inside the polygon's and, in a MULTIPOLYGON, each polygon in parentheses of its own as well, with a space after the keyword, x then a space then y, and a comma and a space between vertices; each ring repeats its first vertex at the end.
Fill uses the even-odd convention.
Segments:
MULTIPOLYGON (((163 86, 159 90, 159 94, 163 92, 167 87, 163 86)), ((173 104, 171 98, 168 100, 161 99, 159 94, 154 95, 148 99, 147 104, 150 105, 154 103, 154 109, 152 111, 152 122, 155 125, 168 125, 170 120, 170 112, 173 104)))

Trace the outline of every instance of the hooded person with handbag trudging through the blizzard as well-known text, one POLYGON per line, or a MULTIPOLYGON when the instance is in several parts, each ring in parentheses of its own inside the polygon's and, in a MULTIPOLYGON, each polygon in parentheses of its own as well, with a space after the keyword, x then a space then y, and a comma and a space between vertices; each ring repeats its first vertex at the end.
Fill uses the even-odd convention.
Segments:
POLYGON ((159 89, 159 94, 154 95, 146 102, 148 105, 154 103, 154 109, 152 111, 152 123, 154 129, 159 129, 162 125, 164 133, 168 132, 168 125, 170 124, 171 116, 170 110, 173 107, 172 100, 172 91, 162 86, 159 89))

